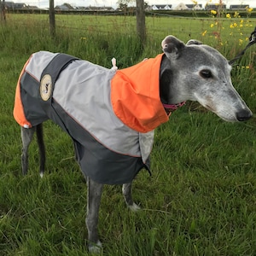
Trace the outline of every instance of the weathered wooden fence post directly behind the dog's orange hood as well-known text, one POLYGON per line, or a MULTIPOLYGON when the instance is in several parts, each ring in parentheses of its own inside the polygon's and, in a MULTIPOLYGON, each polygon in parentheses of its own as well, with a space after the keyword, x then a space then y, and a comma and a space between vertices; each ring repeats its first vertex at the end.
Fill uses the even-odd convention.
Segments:
POLYGON ((137 34, 144 44, 146 41, 146 22, 144 0, 136 0, 137 34))

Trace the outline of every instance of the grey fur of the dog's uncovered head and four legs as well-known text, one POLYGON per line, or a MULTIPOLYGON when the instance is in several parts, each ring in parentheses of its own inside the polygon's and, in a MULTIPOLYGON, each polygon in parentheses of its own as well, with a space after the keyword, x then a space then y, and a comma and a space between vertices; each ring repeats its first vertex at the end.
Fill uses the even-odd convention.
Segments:
MULTIPOLYGON (((197 101, 221 119, 226 121, 244 121, 252 112, 231 83, 229 62, 218 50, 196 40, 183 44, 173 36, 162 41, 165 53, 160 66, 160 99, 163 103, 177 104, 184 101, 197 101)), ((40 151, 40 175, 44 174, 45 149, 42 124, 31 129, 21 128, 22 172, 28 168, 27 150, 37 131, 40 151)), ((97 224, 103 184, 87 177, 87 216, 89 251, 101 252, 97 224)), ((123 184, 126 205, 131 210, 139 209, 131 196, 131 183, 123 184)))

